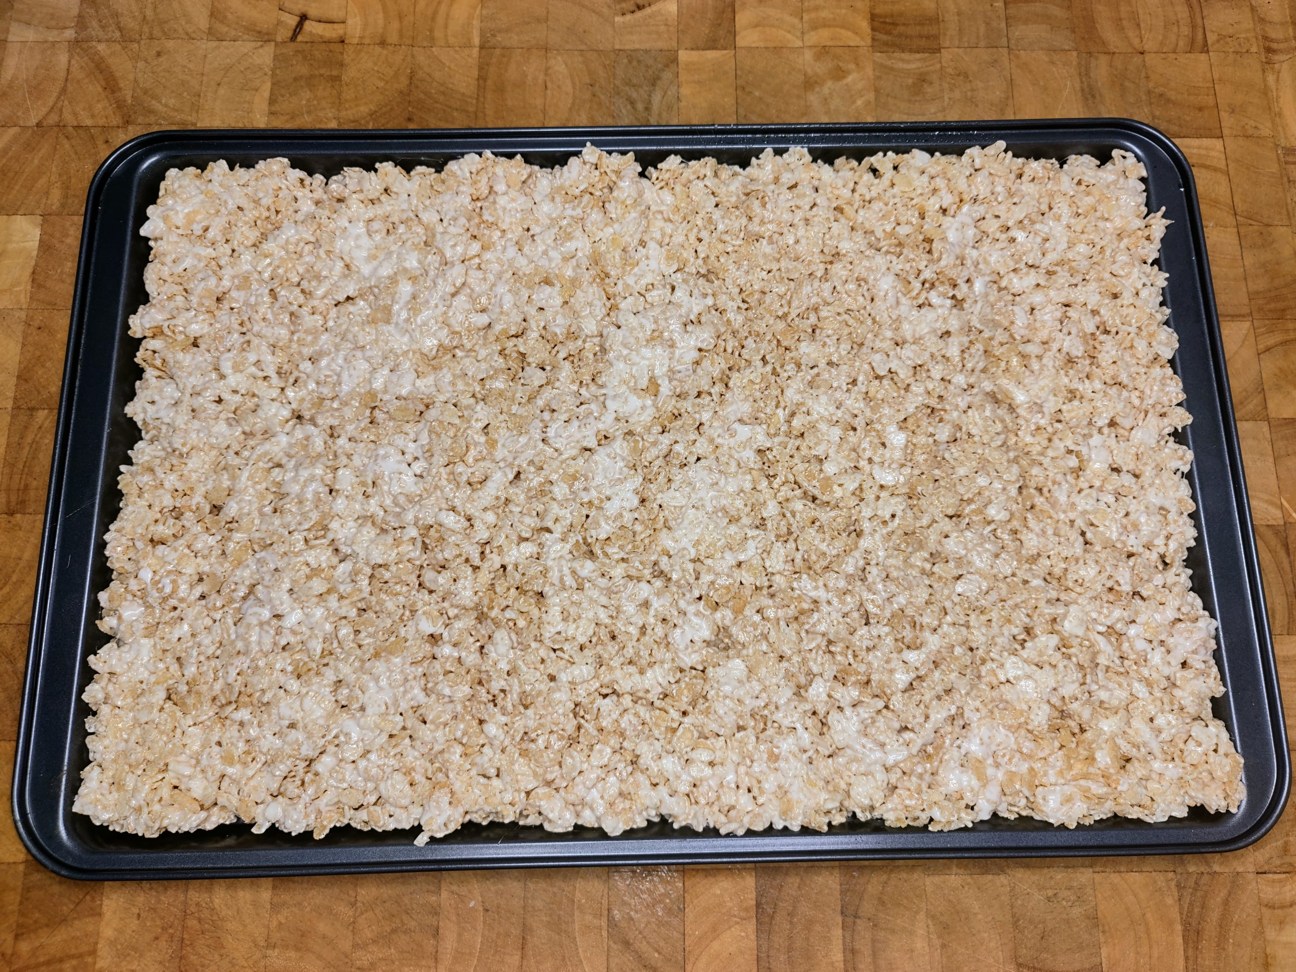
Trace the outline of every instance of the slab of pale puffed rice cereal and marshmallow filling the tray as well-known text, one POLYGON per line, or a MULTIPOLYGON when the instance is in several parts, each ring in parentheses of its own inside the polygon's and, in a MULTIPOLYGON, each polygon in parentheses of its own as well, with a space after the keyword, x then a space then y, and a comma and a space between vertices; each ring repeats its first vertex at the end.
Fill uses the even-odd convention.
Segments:
POLYGON ((1142 175, 172 171, 76 810, 1236 809, 1142 175))

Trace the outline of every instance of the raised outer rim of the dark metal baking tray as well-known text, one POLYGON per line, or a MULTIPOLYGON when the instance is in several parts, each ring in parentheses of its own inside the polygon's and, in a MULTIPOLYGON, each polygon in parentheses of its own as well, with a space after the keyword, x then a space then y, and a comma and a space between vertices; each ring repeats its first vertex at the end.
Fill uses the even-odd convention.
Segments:
MULTIPOLYGON (((201 877, 201 876, 266 876, 279 874, 301 874, 301 868, 292 866, 266 866, 232 868, 211 868, 196 866, 192 868, 168 870, 101 870, 86 867, 67 859, 58 850, 69 848, 49 849, 36 837, 30 823, 30 807, 26 801, 27 765, 30 762, 31 748, 31 712, 40 682, 40 658, 44 652, 44 621, 49 610, 49 579, 53 566, 54 551, 58 539, 57 515, 61 508, 62 478, 66 467, 67 425, 71 419, 75 399, 75 378, 79 365, 80 340, 84 330, 87 286, 92 264, 91 240, 97 226, 98 203, 108 181, 122 168, 128 167, 131 161, 149 149, 167 146, 181 148, 185 143, 203 141, 210 139, 245 139, 248 141, 277 140, 280 143, 308 141, 312 139, 354 139, 354 140, 380 140, 380 139, 428 139, 429 141, 452 141, 457 137, 517 137, 533 140, 548 140, 555 137, 568 139, 575 133, 583 133, 592 140, 599 136, 644 136, 644 135, 721 135, 721 136, 759 136, 781 135, 794 136, 798 133, 833 135, 833 133, 859 133, 859 132, 893 132, 901 135, 962 135, 968 136, 986 132, 1019 132, 1019 131, 1054 131, 1076 132, 1082 135, 1094 130, 1122 131, 1130 136, 1144 140, 1150 146, 1163 152, 1174 165, 1182 180, 1185 203, 1188 210, 1188 231, 1192 238, 1192 249, 1198 258, 1199 281, 1203 289, 1204 308, 1208 318, 1208 332, 1210 340, 1212 371, 1223 406, 1221 408, 1225 425, 1225 448, 1229 454, 1230 472, 1232 473, 1232 489, 1238 503, 1240 520, 1240 539, 1243 547, 1243 560, 1248 570, 1248 587, 1251 588, 1253 613, 1256 614, 1256 631, 1260 636, 1260 664, 1265 678, 1266 704, 1270 722, 1274 728, 1274 791, 1270 798, 1256 818, 1256 822, 1242 835, 1235 837, 1209 842, 1188 845, 1157 845, 1150 848, 1108 848, 1111 855, 1146 855, 1146 854, 1195 854, 1195 853, 1222 853, 1239 850, 1255 844, 1264 837, 1278 822, 1286 807, 1291 792, 1291 757, 1287 749, 1287 731, 1283 719, 1283 705, 1278 692, 1277 662, 1273 649, 1273 639, 1265 610, 1265 592, 1258 583, 1258 552, 1256 548, 1255 526, 1251 517, 1251 503, 1245 489, 1245 474, 1242 463, 1242 451, 1238 442, 1236 420, 1231 407, 1229 390, 1229 376, 1225 365, 1223 350, 1220 341, 1218 312, 1214 301, 1214 286, 1210 279, 1207 257, 1205 238, 1201 228, 1200 206, 1196 194, 1196 181, 1192 168, 1183 150, 1165 132, 1147 122, 1133 118, 1028 118, 1028 119, 978 119, 960 122, 862 122, 862 123, 787 123, 787 124, 715 124, 715 126, 573 126, 573 127, 500 127, 500 128, 390 128, 390 130, 356 130, 356 128, 188 128, 188 130, 157 130, 137 135, 117 146, 100 163, 86 193, 86 213, 82 226, 80 249, 78 254, 78 267, 75 275, 75 288, 73 307, 69 321, 67 350, 64 362, 64 385, 60 395, 57 425, 54 432, 53 457, 51 463, 49 490, 45 498, 44 520, 41 525, 41 540, 36 561, 36 583, 32 595, 32 618, 27 644, 27 667, 22 686, 22 713, 18 721, 18 739, 14 749, 14 776, 10 793, 10 810, 14 828, 23 846, 44 867, 64 877, 76 880, 137 880, 137 879, 166 879, 166 877, 201 877)), ((75 857, 75 849, 73 848, 75 857)), ((1025 853, 1008 853, 1004 857, 1076 857, 1091 854, 1093 849, 1085 846, 1059 848, 1051 853, 1038 854, 1029 849, 1025 853)), ((871 853, 870 858, 885 859, 923 859, 934 858, 969 858, 969 857, 997 857, 994 850, 989 851, 941 851, 938 854, 912 854, 898 853, 871 853)), ((724 859, 739 859, 743 855, 728 855, 724 859)), ((814 861, 814 859, 850 859, 841 854, 814 853, 806 854, 763 854, 750 857, 752 861, 814 861)), ((678 858, 662 855, 667 863, 705 862, 710 859, 706 854, 680 854, 678 858)), ((616 854, 608 854, 605 861, 597 858, 581 858, 579 863, 617 863, 616 854)), ((395 870, 439 870, 439 867, 527 867, 527 866, 559 866, 562 863, 578 863, 577 861, 559 861, 552 858, 518 858, 482 862, 419 862, 408 866, 373 867, 369 866, 324 866, 310 868, 311 874, 354 874, 364 871, 395 871, 395 870)))

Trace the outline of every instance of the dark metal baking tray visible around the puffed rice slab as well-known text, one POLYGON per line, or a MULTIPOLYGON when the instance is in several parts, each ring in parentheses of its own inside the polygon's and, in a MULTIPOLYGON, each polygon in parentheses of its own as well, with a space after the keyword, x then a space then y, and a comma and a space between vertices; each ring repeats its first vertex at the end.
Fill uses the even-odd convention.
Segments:
POLYGON ((1182 854, 1222 851, 1258 840, 1278 819, 1290 785, 1287 737, 1260 566, 1229 397, 1220 325, 1207 267, 1201 216, 1183 153, 1159 131, 1125 119, 835 126, 551 128, 482 131, 188 131, 154 132, 117 149, 100 167, 86 202, 80 263, 64 371, 62 400, 40 547, 31 644, 16 754, 13 814, 32 855, 58 874, 84 879, 213 877, 557 864, 831 861, 863 858, 1182 854), (1161 245, 1165 301, 1178 332, 1174 367, 1192 424, 1183 439, 1196 455, 1190 473, 1198 544, 1194 590, 1220 623, 1217 661, 1226 693, 1216 714, 1245 759, 1247 798, 1236 814, 1195 810, 1148 824, 1107 819, 1065 829, 1030 819, 991 819, 933 833, 850 822, 827 833, 766 831, 744 836, 674 829, 660 823, 617 837, 601 831, 550 833, 516 824, 465 826, 424 848, 411 831, 337 828, 253 835, 248 826, 141 839, 97 827, 71 811, 87 762, 91 670, 86 658, 106 640, 95 626, 96 592, 110 579, 104 533, 117 516, 118 468, 139 430, 126 417, 140 375, 127 318, 145 302, 148 240, 139 235, 168 168, 215 159, 251 165, 286 156, 308 172, 333 175, 380 161, 442 166, 469 152, 521 154, 562 163, 594 143, 634 152, 644 165, 678 153, 745 163, 766 148, 806 146, 816 158, 876 152, 963 152, 1002 139, 1017 156, 1099 159, 1113 149, 1147 167, 1150 207, 1170 220, 1161 245))

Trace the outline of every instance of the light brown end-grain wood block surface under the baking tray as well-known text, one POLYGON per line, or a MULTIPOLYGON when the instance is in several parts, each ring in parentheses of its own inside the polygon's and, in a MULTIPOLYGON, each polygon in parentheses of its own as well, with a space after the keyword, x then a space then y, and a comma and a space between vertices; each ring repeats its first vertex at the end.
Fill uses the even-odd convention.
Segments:
MULTIPOLYGON (((1196 170, 1296 688, 1293 0, 0 0, 4 787, 80 211, 124 139, 1085 114, 1196 170)), ((14 969, 1296 968, 1296 813, 1222 857, 110 885, 54 877, 0 813, 14 969)))

